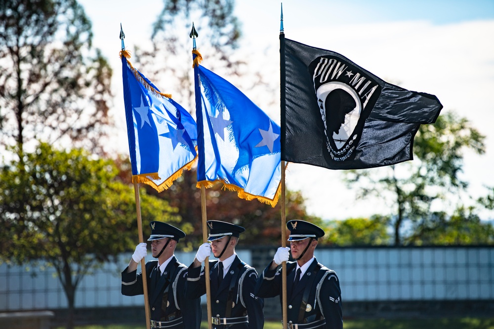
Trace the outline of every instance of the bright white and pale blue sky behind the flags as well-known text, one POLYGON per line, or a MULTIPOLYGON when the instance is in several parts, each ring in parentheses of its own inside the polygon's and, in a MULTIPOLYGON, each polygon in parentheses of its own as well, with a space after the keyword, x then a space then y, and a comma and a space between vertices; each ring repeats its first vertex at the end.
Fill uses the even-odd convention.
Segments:
MULTIPOLYGON (((120 74, 120 23, 124 26, 125 45, 149 45, 151 24, 162 10, 161 0, 135 1, 82 0, 93 22, 94 46, 102 49, 114 67, 113 111, 120 125, 120 151, 128 152, 123 113, 120 74), (151 13, 152 14, 150 17, 151 13)), ((469 119, 473 127, 487 136, 486 154, 466 152, 463 178, 470 182, 469 196, 485 195, 486 185, 494 186, 494 0, 472 1, 391 1, 391 0, 284 0, 286 37, 312 46, 339 52, 356 64, 387 80, 414 91, 436 95, 445 111, 453 110, 469 119)), ((261 71, 273 85, 279 86, 280 2, 272 0, 238 1, 236 14, 242 22, 243 47, 239 54, 247 58, 255 71, 261 71)), ((201 27, 198 46, 201 48, 201 27)), ((189 38, 184 31, 184 38, 189 38)), ((202 49, 207 67, 207 49, 202 49)), ((187 64, 189 54, 186 54, 187 64)), ((141 71, 145 72, 145 68, 141 71)), ((225 77, 228 78, 228 77, 225 77)), ((241 85, 248 74, 231 80, 241 85)), ((174 86, 160 86, 173 94, 174 86)), ((279 96, 263 90, 244 90, 246 95, 279 120, 279 96), (275 101, 273 104, 273 100, 275 101)), ((184 104, 182 100, 175 101, 184 104)), ((392 212, 384 198, 355 201, 356 191, 341 183, 342 173, 323 168, 290 164, 287 187, 301 190, 307 198, 307 210, 323 219, 345 219, 392 212), (328 188, 331 186, 331 188, 328 188), (329 211, 328 209, 331 209, 329 211)), ((256 201, 252 201, 256 202, 256 201)), ((450 200, 453 208, 458 200, 450 200)), ((485 212, 483 218, 494 218, 485 212)))

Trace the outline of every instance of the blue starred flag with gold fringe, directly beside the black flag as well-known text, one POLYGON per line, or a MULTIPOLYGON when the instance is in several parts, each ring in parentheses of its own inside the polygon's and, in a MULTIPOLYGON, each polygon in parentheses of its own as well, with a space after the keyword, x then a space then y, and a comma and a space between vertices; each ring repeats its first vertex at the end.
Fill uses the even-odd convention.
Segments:
POLYGON ((281 191, 280 127, 230 82, 200 65, 194 73, 198 187, 221 182, 240 198, 274 207, 281 191))

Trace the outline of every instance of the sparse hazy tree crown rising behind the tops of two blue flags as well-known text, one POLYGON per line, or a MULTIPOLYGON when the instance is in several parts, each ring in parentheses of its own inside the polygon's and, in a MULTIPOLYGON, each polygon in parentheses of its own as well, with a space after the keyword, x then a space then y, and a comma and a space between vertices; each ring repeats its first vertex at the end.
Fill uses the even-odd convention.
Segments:
MULTIPOLYGON (((238 51, 242 37, 241 23, 234 14, 234 0, 164 0, 164 6, 153 24, 152 49, 135 47, 134 66, 145 68, 146 75, 185 109, 193 111, 194 74, 192 40, 187 37, 192 23, 199 34, 197 47, 204 65, 227 76, 242 90, 262 90, 265 95, 275 88, 260 74, 259 63, 253 68, 246 61, 246 50, 238 51), (237 77, 241 76, 242 79, 237 77)), ((129 40, 133 42, 132 40, 129 40)), ((134 41, 135 42, 135 41, 134 41)), ((276 100, 256 100, 261 108, 276 100), (262 102, 265 102, 264 104, 262 102)))

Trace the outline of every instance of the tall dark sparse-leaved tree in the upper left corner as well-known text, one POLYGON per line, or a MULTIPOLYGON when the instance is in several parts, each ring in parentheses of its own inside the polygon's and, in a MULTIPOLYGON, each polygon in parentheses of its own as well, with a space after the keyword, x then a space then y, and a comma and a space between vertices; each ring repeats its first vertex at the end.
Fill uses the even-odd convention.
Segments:
POLYGON ((76 0, 1 1, 0 135, 21 159, 36 140, 97 150, 112 70, 91 39, 76 0))

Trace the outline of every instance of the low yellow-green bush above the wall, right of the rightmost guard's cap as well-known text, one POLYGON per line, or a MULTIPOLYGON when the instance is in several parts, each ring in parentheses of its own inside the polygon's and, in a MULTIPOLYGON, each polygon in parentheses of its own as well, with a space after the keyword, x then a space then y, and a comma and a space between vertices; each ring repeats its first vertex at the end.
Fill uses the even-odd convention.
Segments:
POLYGON ((332 220, 327 225, 322 244, 338 246, 380 246, 388 245, 390 218, 374 215, 371 218, 350 218, 332 220))

